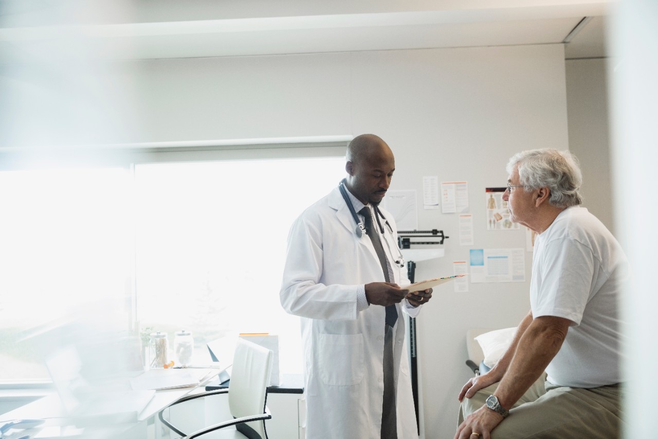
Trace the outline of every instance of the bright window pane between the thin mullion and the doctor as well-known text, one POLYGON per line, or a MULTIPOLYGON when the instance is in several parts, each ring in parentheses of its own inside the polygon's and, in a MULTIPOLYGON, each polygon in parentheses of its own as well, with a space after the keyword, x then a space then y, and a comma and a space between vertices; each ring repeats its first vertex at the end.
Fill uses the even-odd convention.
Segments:
MULTIPOLYGON (((301 371, 299 319, 279 302, 292 221, 345 174, 344 158, 137 165, 141 328, 279 334, 280 367, 301 371)), ((171 344, 171 343, 170 343, 171 344)))

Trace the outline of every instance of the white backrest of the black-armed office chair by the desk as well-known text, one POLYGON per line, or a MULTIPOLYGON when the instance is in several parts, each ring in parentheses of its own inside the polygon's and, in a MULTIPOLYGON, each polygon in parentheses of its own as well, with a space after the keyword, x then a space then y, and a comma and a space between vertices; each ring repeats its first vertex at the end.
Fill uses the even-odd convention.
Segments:
MULTIPOLYGON (((251 341, 238 339, 228 384, 228 405, 233 417, 265 413, 271 373, 272 351, 251 341)), ((248 438, 266 438, 265 421, 238 424, 236 428, 248 438), (259 436, 254 436, 253 432, 259 436)))

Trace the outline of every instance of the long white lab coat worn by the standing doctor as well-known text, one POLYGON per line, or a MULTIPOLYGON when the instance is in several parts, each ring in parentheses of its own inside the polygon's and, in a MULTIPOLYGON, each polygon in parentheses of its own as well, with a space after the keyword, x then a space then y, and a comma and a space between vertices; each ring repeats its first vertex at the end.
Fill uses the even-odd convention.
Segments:
MULTIPOLYGON (((391 237, 384 226, 397 256, 395 221, 382 213, 393 228, 391 237)), ((383 282, 384 274, 370 238, 357 237, 356 227, 336 188, 305 210, 288 236, 280 299, 287 312, 301 316, 309 439, 380 438, 386 311, 370 305, 357 312, 357 288, 383 282)), ((409 284, 406 265, 392 263, 392 269, 393 282, 409 284)), ((397 305, 393 341, 399 439, 418 437, 401 310, 415 316, 420 307, 407 310, 405 304, 397 305)))

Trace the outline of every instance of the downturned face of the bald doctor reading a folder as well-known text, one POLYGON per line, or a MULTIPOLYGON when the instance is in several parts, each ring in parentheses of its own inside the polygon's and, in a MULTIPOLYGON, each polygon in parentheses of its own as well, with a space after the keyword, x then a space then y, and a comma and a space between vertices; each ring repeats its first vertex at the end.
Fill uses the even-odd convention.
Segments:
POLYGON ((391 184, 393 171, 393 152, 388 146, 379 148, 361 160, 347 163, 347 187, 362 203, 379 204, 391 184))

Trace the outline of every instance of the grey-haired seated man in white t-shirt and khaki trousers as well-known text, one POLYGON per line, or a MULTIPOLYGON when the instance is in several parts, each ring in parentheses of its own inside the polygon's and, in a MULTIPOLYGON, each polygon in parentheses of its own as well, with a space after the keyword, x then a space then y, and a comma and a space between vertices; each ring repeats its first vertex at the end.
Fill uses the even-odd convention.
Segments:
POLYGON ((455 439, 619 436, 626 256, 581 203, 582 176, 567 151, 513 156, 503 200, 538 233, 530 312, 490 372, 468 380, 455 439))

